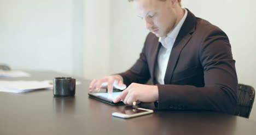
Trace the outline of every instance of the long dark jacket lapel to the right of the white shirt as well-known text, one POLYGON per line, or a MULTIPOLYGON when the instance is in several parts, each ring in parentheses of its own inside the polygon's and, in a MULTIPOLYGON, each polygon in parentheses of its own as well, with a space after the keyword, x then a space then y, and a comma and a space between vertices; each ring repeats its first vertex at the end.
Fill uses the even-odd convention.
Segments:
MULTIPOLYGON (((188 10, 188 9, 187 9, 188 10)), ((172 51, 168 60, 166 73, 165 73, 165 84, 170 84, 173 71, 181 54, 182 49, 187 45, 191 39, 191 34, 195 31, 196 17, 188 10, 187 18, 179 31, 179 34, 173 44, 172 51)))

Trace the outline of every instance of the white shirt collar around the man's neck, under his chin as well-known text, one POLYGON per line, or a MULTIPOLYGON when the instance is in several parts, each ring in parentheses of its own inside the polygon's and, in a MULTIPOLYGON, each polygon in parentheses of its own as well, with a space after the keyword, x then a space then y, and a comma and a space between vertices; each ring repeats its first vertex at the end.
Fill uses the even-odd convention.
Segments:
POLYGON ((182 17, 181 21, 179 21, 178 25, 174 27, 174 29, 172 31, 170 31, 166 37, 160 37, 159 38, 159 42, 161 42, 162 46, 164 46, 166 49, 171 49, 172 45, 170 45, 171 42, 174 43, 174 41, 176 40, 179 31, 181 30, 182 25, 184 24, 184 21, 188 15, 188 11, 187 9, 185 10, 185 14, 182 17))

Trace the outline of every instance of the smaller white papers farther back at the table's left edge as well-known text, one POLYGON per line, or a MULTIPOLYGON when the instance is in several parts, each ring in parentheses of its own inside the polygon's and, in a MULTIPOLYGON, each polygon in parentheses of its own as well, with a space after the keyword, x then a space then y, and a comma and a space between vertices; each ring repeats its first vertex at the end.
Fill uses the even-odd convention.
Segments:
POLYGON ((3 71, 0 70, 0 78, 30 77, 31 75, 23 71, 3 71))

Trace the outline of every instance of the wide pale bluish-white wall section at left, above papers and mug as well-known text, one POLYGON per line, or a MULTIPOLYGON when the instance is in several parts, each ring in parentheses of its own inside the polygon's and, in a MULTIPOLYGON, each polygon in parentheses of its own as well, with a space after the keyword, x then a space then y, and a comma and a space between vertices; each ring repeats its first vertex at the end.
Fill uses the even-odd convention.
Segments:
POLYGON ((83 38, 83 0, 0 0, 0 63, 13 69, 82 77, 83 38))

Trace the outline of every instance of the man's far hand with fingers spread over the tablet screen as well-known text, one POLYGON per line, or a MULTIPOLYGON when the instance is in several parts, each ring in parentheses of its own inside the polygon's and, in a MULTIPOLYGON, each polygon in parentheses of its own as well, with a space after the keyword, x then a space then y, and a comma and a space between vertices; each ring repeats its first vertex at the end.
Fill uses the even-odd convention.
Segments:
POLYGON ((101 88, 107 88, 108 94, 111 95, 113 92, 113 87, 120 90, 124 90, 126 88, 121 75, 111 75, 100 80, 94 79, 89 85, 89 90, 92 92, 95 89, 95 91, 98 92, 101 88))

